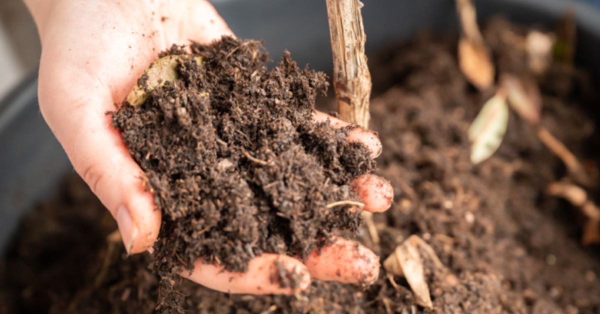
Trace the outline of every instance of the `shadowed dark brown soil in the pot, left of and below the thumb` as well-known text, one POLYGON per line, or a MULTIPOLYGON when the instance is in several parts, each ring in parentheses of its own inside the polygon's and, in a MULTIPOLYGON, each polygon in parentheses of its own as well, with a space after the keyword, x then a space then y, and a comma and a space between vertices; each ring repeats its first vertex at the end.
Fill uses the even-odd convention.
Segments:
POLYGON ((0 262, 0 313, 150 313, 158 279, 75 175, 23 219, 0 262))

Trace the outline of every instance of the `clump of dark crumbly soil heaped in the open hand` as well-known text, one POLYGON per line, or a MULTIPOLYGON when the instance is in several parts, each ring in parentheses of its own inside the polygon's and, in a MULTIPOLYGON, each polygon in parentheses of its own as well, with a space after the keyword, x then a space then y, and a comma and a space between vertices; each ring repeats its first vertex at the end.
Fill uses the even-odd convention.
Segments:
POLYGON ((348 128, 313 121, 325 74, 300 70, 287 52, 269 71, 257 41, 191 51, 200 65, 180 58, 178 79, 112 113, 163 212, 154 270, 172 277, 202 258, 245 271, 263 252, 304 258, 335 232, 355 232, 358 210, 327 205, 358 201, 350 181, 375 162, 348 128))

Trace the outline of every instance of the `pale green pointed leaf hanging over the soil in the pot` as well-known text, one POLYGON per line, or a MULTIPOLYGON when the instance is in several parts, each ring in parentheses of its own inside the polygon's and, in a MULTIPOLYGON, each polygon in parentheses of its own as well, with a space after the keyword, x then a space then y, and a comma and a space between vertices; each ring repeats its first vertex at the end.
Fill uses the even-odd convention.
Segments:
POLYGON ((508 126, 508 104, 502 89, 491 97, 469 127, 471 162, 478 164, 488 159, 500 146, 508 126))

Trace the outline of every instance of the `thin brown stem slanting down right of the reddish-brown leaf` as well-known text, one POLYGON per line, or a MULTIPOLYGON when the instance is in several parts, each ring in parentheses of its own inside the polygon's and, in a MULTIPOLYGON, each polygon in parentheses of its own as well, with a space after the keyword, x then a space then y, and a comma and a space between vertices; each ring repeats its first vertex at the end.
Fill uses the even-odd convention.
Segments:
POLYGON ((565 163, 565 166, 569 171, 569 175, 575 182, 584 187, 594 186, 577 157, 575 157, 575 155, 569 151, 569 149, 566 148, 566 146, 563 145, 560 140, 557 140, 547 128, 539 125, 536 133, 538 134, 538 137, 542 143, 544 143, 544 145, 546 145, 550 151, 557 155, 557 157, 559 157, 563 163, 565 163))

